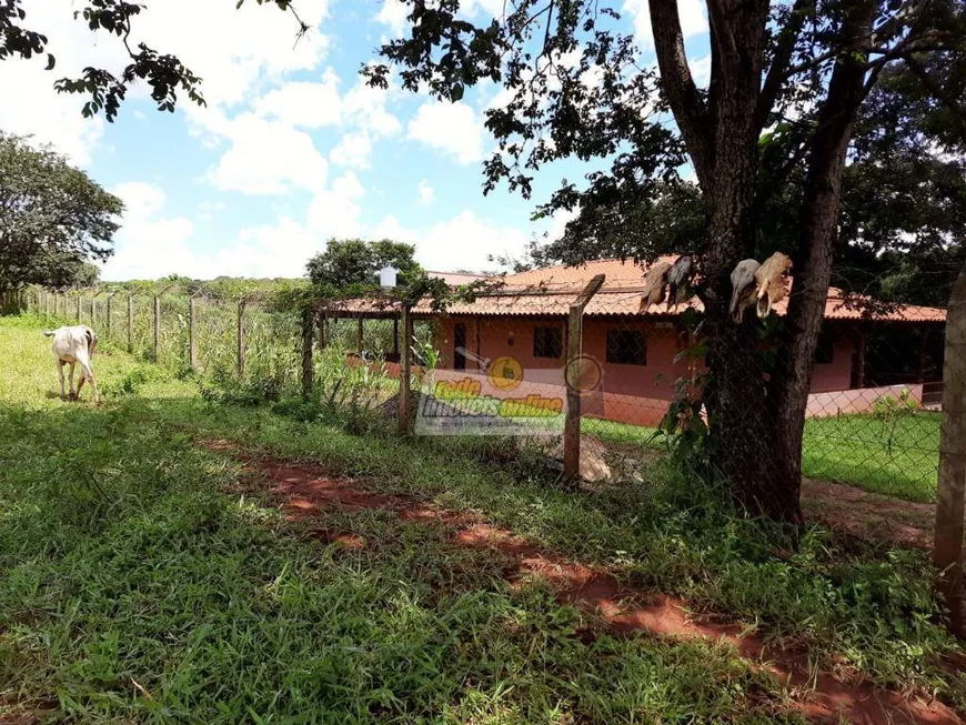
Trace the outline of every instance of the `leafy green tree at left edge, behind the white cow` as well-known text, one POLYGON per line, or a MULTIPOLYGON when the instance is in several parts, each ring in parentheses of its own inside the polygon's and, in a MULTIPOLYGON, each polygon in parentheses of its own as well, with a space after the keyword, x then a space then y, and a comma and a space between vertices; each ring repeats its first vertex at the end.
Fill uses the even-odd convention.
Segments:
POLYGON ((0 132, 0 290, 92 282, 89 262, 112 253, 122 211, 63 157, 0 132))

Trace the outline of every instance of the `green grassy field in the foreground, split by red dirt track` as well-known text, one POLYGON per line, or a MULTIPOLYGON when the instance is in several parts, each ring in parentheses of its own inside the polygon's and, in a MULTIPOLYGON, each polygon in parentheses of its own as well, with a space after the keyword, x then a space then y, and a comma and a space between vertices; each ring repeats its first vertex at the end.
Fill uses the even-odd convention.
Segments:
POLYGON ((540 583, 510 586, 500 555, 439 528, 329 512, 324 525, 366 546, 313 538, 240 493, 239 464, 197 445, 212 437, 476 512, 818 663, 966 692, 937 666, 956 645, 933 623, 918 552, 818 527, 793 545, 673 471, 591 495, 505 442, 454 450, 378 424, 353 434, 295 403, 207 402, 109 346, 95 359, 105 404, 67 403, 49 355, 36 321, 0 319, 0 721, 37 707, 87 723, 794 719, 789 693, 729 647, 587 641, 587 615, 540 583))

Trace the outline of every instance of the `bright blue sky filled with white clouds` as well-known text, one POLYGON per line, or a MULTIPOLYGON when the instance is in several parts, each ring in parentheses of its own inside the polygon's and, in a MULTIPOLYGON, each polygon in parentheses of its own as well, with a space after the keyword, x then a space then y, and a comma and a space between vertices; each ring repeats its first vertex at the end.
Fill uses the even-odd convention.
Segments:
MULTIPOLYGON (((464 0, 464 12, 484 20, 503 1, 464 0)), ((80 0, 24 4, 58 63, 52 72, 43 60, 0 63, 0 128, 53 144, 124 200, 107 280, 295 276, 333 236, 393 238, 414 243, 427 269, 485 270, 489 254, 519 255, 564 222, 531 222, 533 202, 482 193, 494 145, 483 112, 497 88, 449 104, 360 82, 361 63, 404 28, 398 0, 299 0, 313 31, 298 43, 290 14, 251 0, 240 10, 234 0, 150 0, 139 39, 201 75, 208 107, 184 100, 159 113, 138 89, 115 123, 83 119, 79 97, 52 89, 88 64, 121 67, 115 39, 73 19, 80 0)), ((700 78, 702 6, 682 1, 700 78)), ((623 0, 623 16, 642 61, 653 62, 646 0, 623 0)), ((546 169, 535 198, 582 171, 576 162, 546 169)))

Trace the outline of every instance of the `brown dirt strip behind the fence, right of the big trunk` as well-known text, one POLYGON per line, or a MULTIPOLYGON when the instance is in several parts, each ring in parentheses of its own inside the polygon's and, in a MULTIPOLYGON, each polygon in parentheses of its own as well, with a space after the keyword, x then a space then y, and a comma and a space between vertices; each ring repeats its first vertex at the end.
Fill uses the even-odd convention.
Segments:
POLYGON ((914 503, 831 481, 804 479, 805 517, 868 541, 929 551, 936 504, 914 503))

